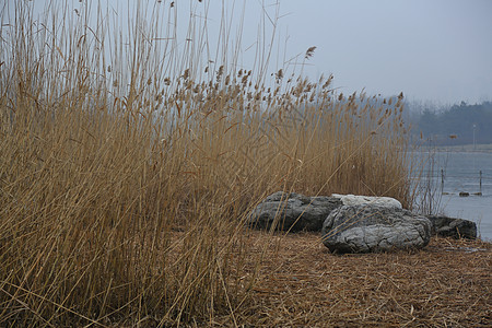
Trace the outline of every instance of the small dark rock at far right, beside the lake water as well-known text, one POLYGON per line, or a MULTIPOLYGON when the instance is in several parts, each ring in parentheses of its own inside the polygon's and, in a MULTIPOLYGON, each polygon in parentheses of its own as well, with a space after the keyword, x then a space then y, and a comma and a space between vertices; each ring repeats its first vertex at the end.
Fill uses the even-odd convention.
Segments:
POLYGON ((432 223, 432 234, 442 237, 477 238, 477 224, 472 221, 447 218, 443 215, 425 215, 432 223))

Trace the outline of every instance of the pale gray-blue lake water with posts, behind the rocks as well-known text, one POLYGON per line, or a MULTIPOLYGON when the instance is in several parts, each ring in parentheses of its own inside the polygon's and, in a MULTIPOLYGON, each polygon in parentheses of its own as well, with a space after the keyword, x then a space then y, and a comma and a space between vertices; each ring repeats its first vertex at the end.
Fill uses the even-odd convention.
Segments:
MULTIPOLYGON (((476 222, 479 236, 492 242, 492 153, 436 152, 434 155, 422 153, 421 156, 434 159, 432 181, 435 195, 443 194, 440 212, 476 222), (459 192, 470 196, 460 197, 459 192), (477 192, 482 196, 473 195, 477 192)), ((432 160, 427 162, 427 169, 431 163, 432 160)))

